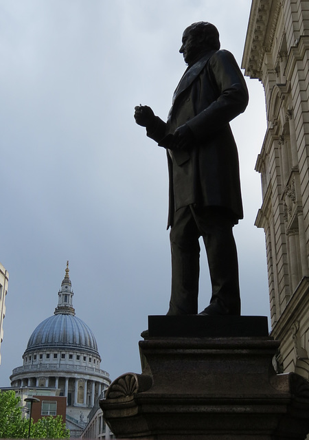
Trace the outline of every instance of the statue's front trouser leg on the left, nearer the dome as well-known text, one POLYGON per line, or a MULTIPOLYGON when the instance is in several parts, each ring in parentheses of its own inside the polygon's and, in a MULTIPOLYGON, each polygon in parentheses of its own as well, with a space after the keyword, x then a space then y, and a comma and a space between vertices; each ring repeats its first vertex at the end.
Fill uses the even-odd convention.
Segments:
POLYGON ((190 207, 177 210, 170 231, 172 291, 168 315, 197 314, 199 236, 190 207))

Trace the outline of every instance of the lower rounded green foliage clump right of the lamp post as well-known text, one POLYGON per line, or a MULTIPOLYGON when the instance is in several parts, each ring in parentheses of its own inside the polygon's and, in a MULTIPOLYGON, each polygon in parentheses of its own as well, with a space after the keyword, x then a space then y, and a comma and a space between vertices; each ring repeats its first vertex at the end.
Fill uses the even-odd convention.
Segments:
POLYGON ((30 429, 32 439, 68 439, 70 430, 65 427, 62 416, 43 417, 36 423, 33 423, 30 429))

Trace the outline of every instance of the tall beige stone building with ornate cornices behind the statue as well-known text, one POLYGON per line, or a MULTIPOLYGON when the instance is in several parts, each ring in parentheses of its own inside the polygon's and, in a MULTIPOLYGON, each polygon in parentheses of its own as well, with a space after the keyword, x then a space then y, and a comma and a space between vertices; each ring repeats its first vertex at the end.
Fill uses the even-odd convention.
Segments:
POLYGON ((267 130, 256 170, 262 207, 271 334, 279 371, 309 378, 309 1, 253 0, 245 75, 260 80, 267 130))

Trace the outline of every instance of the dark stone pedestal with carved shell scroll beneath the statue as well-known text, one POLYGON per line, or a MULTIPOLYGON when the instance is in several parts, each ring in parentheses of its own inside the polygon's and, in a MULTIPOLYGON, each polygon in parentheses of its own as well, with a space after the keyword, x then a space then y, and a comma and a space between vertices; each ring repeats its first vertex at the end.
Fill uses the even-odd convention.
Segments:
POLYGON ((278 347, 264 317, 149 317, 142 373, 111 384, 104 418, 119 439, 305 439, 308 381, 276 375, 278 347))

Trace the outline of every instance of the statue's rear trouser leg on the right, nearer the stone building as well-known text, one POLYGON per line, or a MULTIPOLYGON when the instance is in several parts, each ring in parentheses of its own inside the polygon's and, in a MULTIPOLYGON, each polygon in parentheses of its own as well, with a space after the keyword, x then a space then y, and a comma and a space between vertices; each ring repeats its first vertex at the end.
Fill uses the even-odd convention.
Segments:
POLYGON ((233 237, 233 223, 223 210, 194 210, 194 217, 203 236, 212 295, 209 314, 240 315, 238 256, 233 237))

